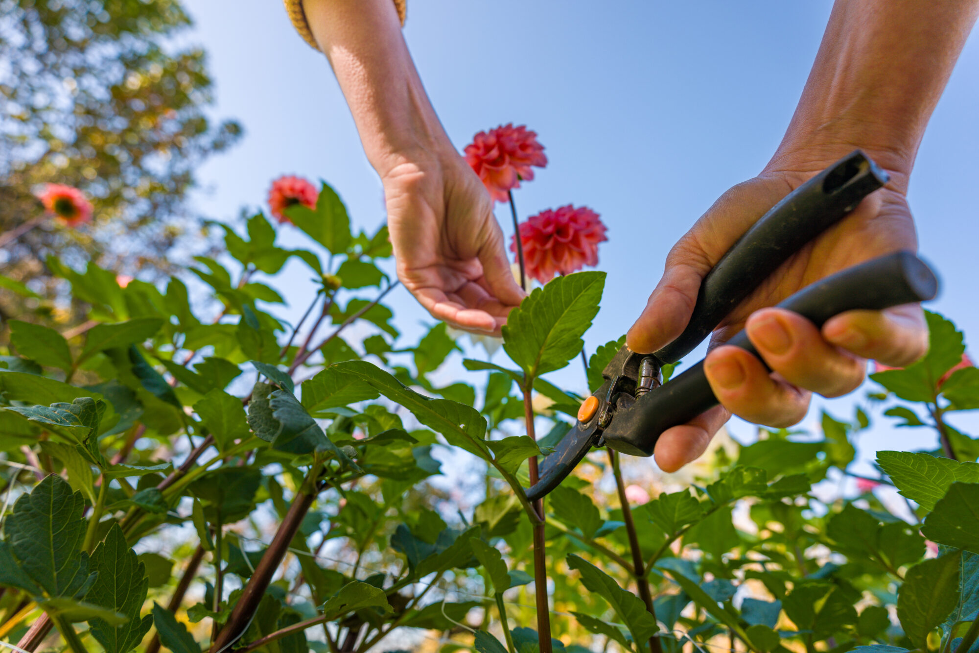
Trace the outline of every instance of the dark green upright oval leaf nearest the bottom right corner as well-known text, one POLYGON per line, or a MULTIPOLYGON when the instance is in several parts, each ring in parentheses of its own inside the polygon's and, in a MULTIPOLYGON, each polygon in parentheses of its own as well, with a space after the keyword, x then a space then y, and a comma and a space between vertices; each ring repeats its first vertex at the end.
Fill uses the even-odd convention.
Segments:
POLYGON ((941 625, 958 603, 961 551, 914 565, 898 593, 898 619, 911 643, 922 651, 928 633, 941 625))

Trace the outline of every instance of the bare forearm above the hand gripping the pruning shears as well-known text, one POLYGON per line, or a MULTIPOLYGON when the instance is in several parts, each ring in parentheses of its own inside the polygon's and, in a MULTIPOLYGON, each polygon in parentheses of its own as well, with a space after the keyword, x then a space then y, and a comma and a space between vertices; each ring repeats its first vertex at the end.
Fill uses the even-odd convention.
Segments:
POLYGON ((906 190, 977 12, 979 0, 837 0, 769 168, 821 168, 862 147, 906 190))

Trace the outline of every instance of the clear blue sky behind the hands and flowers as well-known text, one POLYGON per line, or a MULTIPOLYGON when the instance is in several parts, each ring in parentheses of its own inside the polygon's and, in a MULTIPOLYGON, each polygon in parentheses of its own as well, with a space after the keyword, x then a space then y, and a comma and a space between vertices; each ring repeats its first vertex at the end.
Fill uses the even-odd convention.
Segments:
MULTIPOLYGON (((281 3, 238 0, 233 10, 212 0, 184 4, 196 21, 185 38, 210 55, 216 114, 233 116, 246 129, 242 144, 204 167, 200 210, 232 220, 242 206, 262 205, 272 178, 297 174, 337 188, 354 226, 380 225, 380 183, 339 87, 323 56, 293 31, 281 3)), ((455 145, 461 150, 476 131, 502 123, 535 129, 550 163, 516 191, 521 216, 585 204, 609 227, 609 242, 599 251, 608 280, 586 336, 589 352, 631 325, 676 239, 726 188, 766 164, 831 7, 828 1, 408 4, 404 34, 455 145)), ((977 40, 973 34, 966 44, 934 114, 909 192, 921 254, 943 279, 932 307, 956 321, 966 342, 969 334, 979 337, 977 40)), ((504 205, 496 213, 509 237, 504 205)), ((287 242, 303 242, 285 235, 287 242)), ((298 318, 311 297, 306 277, 292 266, 277 284, 291 304, 287 318, 298 318)), ((388 303, 404 342, 416 341, 421 325, 431 324, 402 289, 388 303)), ((582 389, 577 366, 555 380, 582 389)), ((852 404, 828 406, 847 416, 852 404)), ((860 441, 864 460, 878 448, 934 445, 887 422, 878 418, 860 441)), ((975 415, 955 422, 979 431, 975 415)), ((741 423, 731 430, 743 438, 754 429, 741 423)))

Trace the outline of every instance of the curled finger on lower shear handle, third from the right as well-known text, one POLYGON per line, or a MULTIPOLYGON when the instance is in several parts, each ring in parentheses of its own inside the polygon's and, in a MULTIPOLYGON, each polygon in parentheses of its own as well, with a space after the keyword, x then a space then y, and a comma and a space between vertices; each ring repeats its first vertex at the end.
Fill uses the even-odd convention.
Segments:
POLYGON ((734 347, 718 347, 704 361, 704 373, 724 408, 767 427, 791 427, 809 410, 811 393, 769 376, 762 362, 734 347))

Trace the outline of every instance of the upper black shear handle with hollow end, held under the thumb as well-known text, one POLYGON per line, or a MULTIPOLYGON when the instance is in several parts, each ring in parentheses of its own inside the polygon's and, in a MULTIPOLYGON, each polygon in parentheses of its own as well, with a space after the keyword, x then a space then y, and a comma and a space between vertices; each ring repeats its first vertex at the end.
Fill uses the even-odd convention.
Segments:
POLYGON ((786 195, 704 277, 689 323, 656 358, 676 363, 689 354, 778 266, 887 179, 887 173, 855 150, 786 195))

